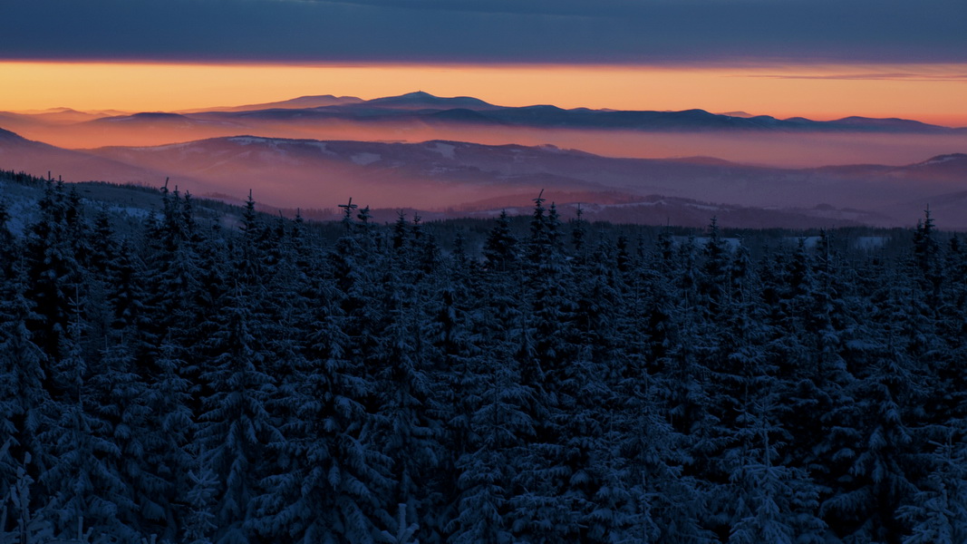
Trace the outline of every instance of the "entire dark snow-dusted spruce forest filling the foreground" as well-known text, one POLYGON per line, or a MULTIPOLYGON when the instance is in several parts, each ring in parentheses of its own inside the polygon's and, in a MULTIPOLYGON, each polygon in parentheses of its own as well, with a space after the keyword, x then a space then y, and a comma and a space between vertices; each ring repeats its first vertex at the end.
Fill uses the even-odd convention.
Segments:
POLYGON ((479 258, 349 207, 0 208, 0 541, 967 541, 958 237, 753 256, 544 204, 479 258))

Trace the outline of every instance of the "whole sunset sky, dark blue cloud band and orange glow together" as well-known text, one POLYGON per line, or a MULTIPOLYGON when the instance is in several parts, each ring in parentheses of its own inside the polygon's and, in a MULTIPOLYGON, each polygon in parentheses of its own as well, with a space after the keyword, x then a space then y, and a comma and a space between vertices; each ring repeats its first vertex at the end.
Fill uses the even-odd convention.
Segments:
POLYGON ((967 126, 963 0, 0 0, 0 20, 6 110, 422 89, 967 126))

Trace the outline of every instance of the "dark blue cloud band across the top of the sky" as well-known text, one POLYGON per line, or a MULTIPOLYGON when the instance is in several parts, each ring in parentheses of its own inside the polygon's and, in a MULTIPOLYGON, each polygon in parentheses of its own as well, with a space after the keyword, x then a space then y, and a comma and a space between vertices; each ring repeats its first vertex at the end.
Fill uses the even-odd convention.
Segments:
POLYGON ((962 0, 32 0, 0 58, 967 62, 962 0))

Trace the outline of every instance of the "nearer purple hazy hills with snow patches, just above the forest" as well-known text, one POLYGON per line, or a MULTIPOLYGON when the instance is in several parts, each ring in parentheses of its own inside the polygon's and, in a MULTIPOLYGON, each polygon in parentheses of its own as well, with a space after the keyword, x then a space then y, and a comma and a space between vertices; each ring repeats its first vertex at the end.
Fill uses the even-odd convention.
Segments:
POLYGON ((930 206, 938 226, 967 228, 963 154, 906 166, 780 168, 451 140, 228 136, 70 150, 3 131, 0 168, 152 186, 170 177, 196 195, 238 198, 251 189, 281 208, 333 208, 352 196, 427 217, 486 216, 502 208, 526 213, 544 190, 565 213, 582 203, 590 219, 631 223, 701 226, 715 216, 727 227, 909 226, 930 206))

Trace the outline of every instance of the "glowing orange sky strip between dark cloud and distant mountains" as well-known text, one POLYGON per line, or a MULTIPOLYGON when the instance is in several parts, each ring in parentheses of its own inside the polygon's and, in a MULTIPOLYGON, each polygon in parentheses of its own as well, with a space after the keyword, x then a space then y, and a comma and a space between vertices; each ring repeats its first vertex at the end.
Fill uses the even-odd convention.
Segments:
POLYGON ((904 117, 967 126, 967 65, 641 67, 191 65, 0 62, 0 110, 238 106, 304 95, 424 90, 502 106, 744 110, 777 117, 904 117))

